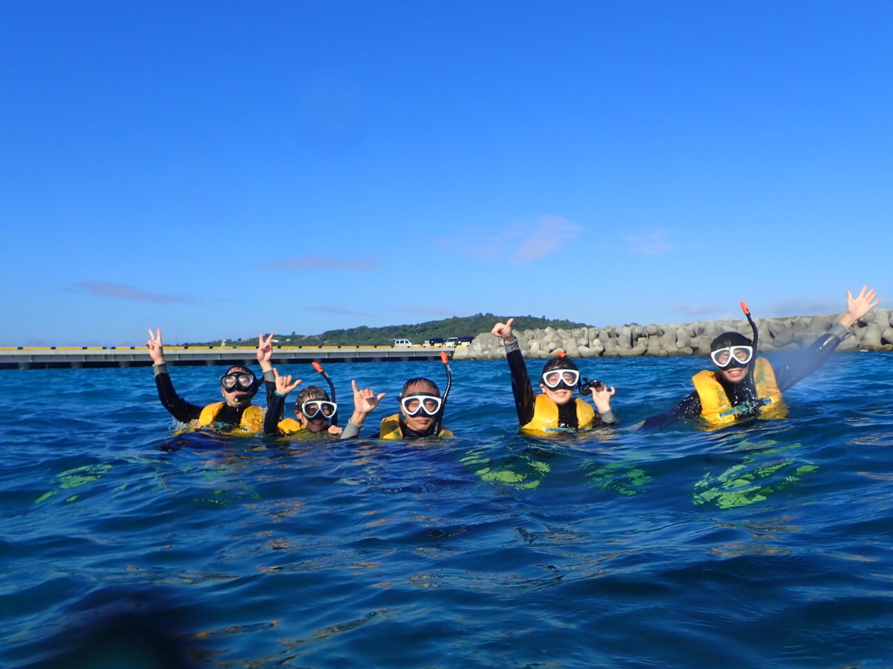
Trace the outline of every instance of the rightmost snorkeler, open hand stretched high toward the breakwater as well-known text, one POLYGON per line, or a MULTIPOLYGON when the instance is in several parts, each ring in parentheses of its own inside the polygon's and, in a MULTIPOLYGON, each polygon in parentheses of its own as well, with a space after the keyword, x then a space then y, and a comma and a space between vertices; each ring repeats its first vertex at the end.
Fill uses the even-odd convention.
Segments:
POLYGON ((769 360, 755 358, 757 328, 747 305, 741 302, 753 330, 753 339, 737 332, 724 332, 710 344, 714 369, 705 369, 692 376, 695 391, 671 410, 647 418, 641 425, 655 429, 677 418, 700 418, 710 428, 731 425, 746 418, 781 418, 787 408, 781 393, 805 376, 812 374, 840 342, 850 334, 849 328, 878 304, 874 289, 858 297, 847 291, 847 311, 828 332, 819 337, 784 367, 772 368, 769 360))

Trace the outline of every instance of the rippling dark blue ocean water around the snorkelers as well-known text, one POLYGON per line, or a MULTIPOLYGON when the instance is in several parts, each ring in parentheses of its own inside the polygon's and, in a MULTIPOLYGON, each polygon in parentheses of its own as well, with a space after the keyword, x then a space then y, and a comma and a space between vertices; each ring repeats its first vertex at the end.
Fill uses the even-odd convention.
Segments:
MULTIPOLYGON (((630 429, 704 364, 581 360, 622 426, 547 440, 504 360, 455 362, 457 437, 421 443, 173 435, 147 368, 2 371, 0 665, 893 666, 893 355, 833 356, 787 420, 630 429)), ((443 379, 328 371, 343 419, 351 378, 378 418, 443 379)))

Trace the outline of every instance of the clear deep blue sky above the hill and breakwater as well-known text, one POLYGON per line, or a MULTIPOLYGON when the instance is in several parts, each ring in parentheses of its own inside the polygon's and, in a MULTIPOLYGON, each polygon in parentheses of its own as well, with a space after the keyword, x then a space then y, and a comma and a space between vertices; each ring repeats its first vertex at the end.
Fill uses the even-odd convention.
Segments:
POLYGON ((893 306, 893 5, 5 3, 2 345, 893 306))

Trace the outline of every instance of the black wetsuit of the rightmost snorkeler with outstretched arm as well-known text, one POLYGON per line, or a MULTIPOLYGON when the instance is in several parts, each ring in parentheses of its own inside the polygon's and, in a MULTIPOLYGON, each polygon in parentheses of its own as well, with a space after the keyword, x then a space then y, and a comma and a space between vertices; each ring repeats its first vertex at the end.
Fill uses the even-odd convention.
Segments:
MULTIPOLYGON (((775 372, 775 381, 779 386, 779 390, 782 392, 788 390, 789 387, 796 384, 797 381, 805 376, 809 376, 816 369, 822 367, 824 361, 828 359, 828 356, 834 352, 834 349, 838 347, 838 344, 842 342, 848 334, 849 333, 844 326, 839 324, 832 326, 828 332, 816 339, 808 349, 800 351, 799 354, 792 355, 788 364, 784 367, 773 369, 775 372)), ((753 363, 754 360, 751 360, 751 364, 753 363)), ((755 409, 753 411, 739 414, 739 417, 755 417, 758 411, 757 401, 759 400, 759 397, 756 394, 753 373, 748 374, 743 381, 739 381, 737 384, 732 384, 729 381, 726 381, 721 374, 717 374, 716 376, 717 380, 722 385, 722 390, 725 391, 726 396, 729 398, 733 407, 738 407, 748 401, 755 402, 755 409)), ((697 391, 695 391, 669 411, 647 418, 642 424, 642 428, 660 428, 677 418, 699 418, 700 416, 701 398, 697 394, 697 391)))

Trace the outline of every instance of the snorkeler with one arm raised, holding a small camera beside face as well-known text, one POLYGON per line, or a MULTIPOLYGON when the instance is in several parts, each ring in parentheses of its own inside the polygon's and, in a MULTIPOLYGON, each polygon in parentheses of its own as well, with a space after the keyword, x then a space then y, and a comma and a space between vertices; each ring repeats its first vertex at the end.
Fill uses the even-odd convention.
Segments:
POLYGON ((580 381, 580 369, 572 359, 563 353, 547 361, 539 378, 539 395, 533 394, 527 365, 521 354, 521 346, 513 335, 509 318, 505 323, 493 326, 493 335, 503 340, 505 359, 512 373, 512 392, 515 409, 518 410, 518 423, 528 434, 549 434, 556 432, 583 432, 599 425, 612 425, 617 422, 611 409, 613 386, 608 388, 598 381, 580 381), (573 390, 580 393, 591 392, 596 411, 587 402, 574 398, 573 390))

